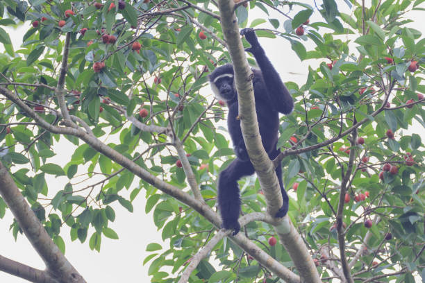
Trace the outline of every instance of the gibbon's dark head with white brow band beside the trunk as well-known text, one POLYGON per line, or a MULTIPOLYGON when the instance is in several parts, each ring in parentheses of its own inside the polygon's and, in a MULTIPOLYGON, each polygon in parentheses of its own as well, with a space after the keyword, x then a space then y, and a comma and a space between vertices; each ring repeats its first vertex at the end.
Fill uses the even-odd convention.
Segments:
POLYGON ((216 68, 208 75, 208 80, 217 99, 228 102, 238 98, 233 83, 233 65, 226 64, 216 68))

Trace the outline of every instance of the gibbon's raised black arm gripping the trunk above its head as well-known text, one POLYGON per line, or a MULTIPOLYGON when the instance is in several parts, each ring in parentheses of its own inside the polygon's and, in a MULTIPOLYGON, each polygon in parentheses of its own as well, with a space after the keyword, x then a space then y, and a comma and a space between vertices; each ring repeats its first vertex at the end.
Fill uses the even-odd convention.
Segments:
POLYGON ((294 109, 294 100, 283 84, 281 76, 274 69, 272 62, 265 55, 265 51, 260 46, 255 31, 253 28, 244 28, 240 31, 240 34, 244 35, 247 42, 251 44, 251 47, 245 49, 245 51, 252 53, 254 58, 256 58, 258 67, 260 67, 263 73, 265 87, 271 104, 274 105, 274 108, 278 112, 290 114, 294 109))

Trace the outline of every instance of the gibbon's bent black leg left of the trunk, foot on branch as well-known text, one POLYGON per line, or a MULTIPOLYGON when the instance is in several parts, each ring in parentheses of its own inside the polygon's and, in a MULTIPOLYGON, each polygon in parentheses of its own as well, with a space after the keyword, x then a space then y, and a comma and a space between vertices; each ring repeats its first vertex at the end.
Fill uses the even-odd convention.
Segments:
POLYGON ((236 158, 219 175, 218 205, 222 215, 222 228, 234 230, 233 235, 238 234, 240 230, 238 222, 240 214, 238 180, 253 173, 251 161, 242 161, 236 158))

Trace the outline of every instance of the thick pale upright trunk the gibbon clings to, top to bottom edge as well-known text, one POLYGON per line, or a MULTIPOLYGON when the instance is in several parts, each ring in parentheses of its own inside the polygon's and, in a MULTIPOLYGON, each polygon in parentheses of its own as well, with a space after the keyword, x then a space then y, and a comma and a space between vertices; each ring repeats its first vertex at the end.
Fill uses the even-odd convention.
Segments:
MULTIPOLYGON (((233 12, 235 3, 234 1, 219 0, 218 4, 220 18, 222 19, 221 24, 223 34, 228 44, 228 52, 231 55, 231 60, 233 62, 235 85, 238 92, 242 135, 244 137, 245 145, 247 146, 249 158, 254 169, 256 169, 258 180, 265 192, 267 212, 274 216, 276 212, 278 212, 278 209, 282 206, 281 190, 275 174, 274 163, 269 159, 265 149, 263 148, 258 129, 253 85, 251 80, 252 71, 249 68, 244 48, 240 40, 238 21, 235 13, 233 12)), ((309 283, 321 282, 319 273, 317 273, 317 269, 310 253, 308 252, 305 243, 303 243, 302 237, 294 228, 294 225, 290 222, 288 216, 276 219, 274 229, 278 233, 278 237, 281 239, 283 246, 285 246, 286 250, 288 250, 292 261, 294 261, 294 264, 301 275, 301 279, 299 280, 301 282, 309 283)), ((238 237, 241 237, 241 234, 242 233, 238 233, 235 238, 238 239, 238 237)), ((247 252, 258 259, 258 255, 256 255, 254 251, 247 250, 247 252)), ((267 262, 265 266, 272 270, 274 269, 273 264, 270 264, 269 262, 267 262)), ((288 278, 286 277, 288 274, 282 274, 281 269, 278 269, 277 271, 279 273, 274 271, 276 275, 287 282, 292 282, 292 280, 294 280, 295 275, 291 275, 291 277, 288 278)))

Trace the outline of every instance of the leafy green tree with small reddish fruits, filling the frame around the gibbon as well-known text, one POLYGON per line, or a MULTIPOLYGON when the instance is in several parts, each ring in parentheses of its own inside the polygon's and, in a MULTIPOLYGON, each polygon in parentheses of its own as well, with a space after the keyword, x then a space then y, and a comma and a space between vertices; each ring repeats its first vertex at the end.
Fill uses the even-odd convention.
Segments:
POLYGON ((417 133, 425 128, 425 40, 406 26, 422 1, 345 1, 351 15, 334 0, 235 2, 0 3, 0 25, 31 22, 19 51, 0 27, 0 216, 7 205, 13 235, 24 232, 47 264, 39 271, 0 257, 1 271, 33 282, 85 282, 63 255, 61 227, 100 252, 102 237, 117 238, 108 228, 114 208, 133 212, 145 189, 146 212, 153 210, 170 243, 162 253, 160 243, 147 246, 152 282, 425 277, 417 133), (255 10, 272 28, 248 18, 255 10), (282 17, 269 17, 272 10, 282 17), (276 160, 258 137, 239 36, 245 26, 287 40, 301 60, 321 61, 302 85, 286 83, 296 103, 281 118, 276 160), (240 182, 244 230, 236 236, 219 230, 215 209, 217 175, 234 157, 217 126, 225 108, 201 91, 208 71, 226 62, 235 66, 258 175, 240 182), (63 138, 76 147, 64 168, 49 160, 60 155, 54 146, 63 138), (275 166, 296 191, 282 219, 270 216, 281 205, 275 166), (47 175, 69 182, 53 189, 47 175), (132 190, 129 199, 124 188, 132 190))

